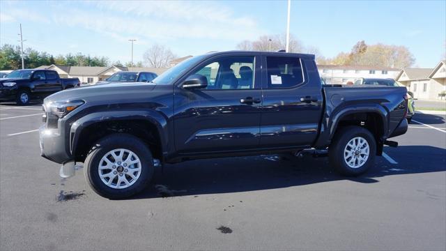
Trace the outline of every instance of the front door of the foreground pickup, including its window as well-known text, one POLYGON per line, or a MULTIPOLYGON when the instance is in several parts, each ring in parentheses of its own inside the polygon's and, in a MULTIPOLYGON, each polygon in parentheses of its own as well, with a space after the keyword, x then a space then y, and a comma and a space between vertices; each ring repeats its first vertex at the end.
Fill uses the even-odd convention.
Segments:
POLYGON ((259 146, 260 59, 216 56, 192 74, 206 77, 206 89, 175 87, 175 144, 180 153, 243 151, 259 146))

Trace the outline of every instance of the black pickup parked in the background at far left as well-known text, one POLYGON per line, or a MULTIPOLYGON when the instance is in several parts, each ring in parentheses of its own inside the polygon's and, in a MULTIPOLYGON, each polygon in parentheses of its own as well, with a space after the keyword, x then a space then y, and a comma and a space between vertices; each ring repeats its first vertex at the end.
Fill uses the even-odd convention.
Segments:
POLYGON ((45 98, 78 84, 77 77, 61 78, 55 70, 14 70, 8 78, 0 80, 0 101, 28 105, 33 98, 45 98))

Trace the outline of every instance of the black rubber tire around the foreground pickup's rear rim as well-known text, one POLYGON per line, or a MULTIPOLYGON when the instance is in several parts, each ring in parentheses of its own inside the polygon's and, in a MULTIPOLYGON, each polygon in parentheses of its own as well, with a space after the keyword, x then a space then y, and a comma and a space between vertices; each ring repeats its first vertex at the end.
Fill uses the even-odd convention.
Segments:
MULTIPOLYGON (((328 149, 328 158, 330 160, 330 165, 334 167, 334 170, 343 174, 345 176, 358 176, 364 174, 367 170, 372 167, 375 163, 376 155, 376 140, 374 135, 365 128, 360 126, 346 126, 337 130, 332 144, 328 149), (352 160, 351 158, 344 158, 344 151, 348 142, 355 137, 362 137, 369 144, 369 156, 367 160, 360 167, 350 167, 347 164, 347 160, 352 160)), ((361 155, 363 157, 364 155, 361 155)), ((358 159, 359 163, 359 159, 358 159)))

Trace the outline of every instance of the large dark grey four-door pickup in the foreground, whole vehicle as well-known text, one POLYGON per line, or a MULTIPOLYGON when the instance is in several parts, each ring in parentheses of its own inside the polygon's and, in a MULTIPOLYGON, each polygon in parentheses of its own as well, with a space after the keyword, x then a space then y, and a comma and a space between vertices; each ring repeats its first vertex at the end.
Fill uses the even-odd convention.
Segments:
POLYGON ((154 160, 327 151, 356 176, 387 139, 406 132, 406 89, 322 86, 314 55, 215 52, 194 56, 148 84, 107 84, 45 98, 41 155, 84 162, 91 188, 129 197, 151 181, 154 160))

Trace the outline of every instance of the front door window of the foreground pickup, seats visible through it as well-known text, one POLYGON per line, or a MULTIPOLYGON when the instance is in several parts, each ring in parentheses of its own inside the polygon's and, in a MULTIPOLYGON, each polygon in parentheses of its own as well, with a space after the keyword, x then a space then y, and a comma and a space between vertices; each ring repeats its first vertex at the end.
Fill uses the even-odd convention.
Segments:
POLYGON ((192 74, 206 77, 208 90, 254 89, 254 56, 217 59, 192 74))

